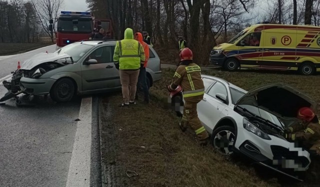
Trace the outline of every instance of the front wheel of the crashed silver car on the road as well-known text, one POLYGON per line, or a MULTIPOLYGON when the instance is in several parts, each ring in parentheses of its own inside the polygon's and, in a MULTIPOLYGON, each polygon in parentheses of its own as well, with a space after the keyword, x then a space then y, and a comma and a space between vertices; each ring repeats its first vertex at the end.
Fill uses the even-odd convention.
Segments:
POLYGON ((74 95, 74 83, 69 78, 61 78, 57 80, 51 90, 50 97, 58 103, 68 102, 74 95))

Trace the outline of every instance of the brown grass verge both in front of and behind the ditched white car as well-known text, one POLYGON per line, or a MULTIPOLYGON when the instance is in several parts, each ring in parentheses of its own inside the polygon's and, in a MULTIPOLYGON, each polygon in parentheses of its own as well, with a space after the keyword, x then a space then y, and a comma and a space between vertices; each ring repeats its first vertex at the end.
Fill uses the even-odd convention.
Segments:
MULTIPOLYGON (((170 83, 174 69, 162 69, 162 72, 161 81, 150 89, 152 101, 149 105, 137 102, 130 108, 118 107, 122 102, 119 92, 102 98, 100 103, 100 109, 109 113, 102 117, 100 124, 102 162, 112 166, 111 168, 117 168, 112 176, 121 182, 120 186, 286 186, 288 181, 278 181, 274 174, 266 177, 265 171, 257 172, 243 161, 221 157, 210 146, 199 147, 190 129, 186 133, 180 132, 177 126, 179 118, 163 107, 163 101, 167 98, 164 85, 170 83), (135 171, 138 176, 128 178, 125 175, 126 170, 135 171)), ((246 90, 261 84, 285 82, 303 90, 319 103, 319 76, 300 76, 291 72, 261 73, 252 70, 212 70, 203 73, 224 78, 246 90)), ((318 178, 318 172, 312 175, 318 178)), ((316 184, 318 181, 313 179, 295 185, 312 187, 316 184)))

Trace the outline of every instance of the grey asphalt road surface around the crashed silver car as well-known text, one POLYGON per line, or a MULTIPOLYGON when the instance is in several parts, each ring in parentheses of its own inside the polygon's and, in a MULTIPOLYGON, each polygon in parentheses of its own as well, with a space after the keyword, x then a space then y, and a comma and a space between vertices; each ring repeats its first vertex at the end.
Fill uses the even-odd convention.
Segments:
MULTIPOLYGON (((55 45, 51 45, 0 57, 0 79, 16 69, 17 61, 21 63, 39 52, 54 50, 55 45)), ((0 97, 5 93, 6 89, 0 84, 0 97)), ((93 98, 92 103, 97 106, 96 99, 93 98)), ((17 107, 12 99, 0 105, 0 187, 64 187, 67 181, 72 182, 72 178, 68 179, 74 173, 69 171, 71 157, 75 161, 78 158, 73 148, 75 142, 82 144, 81 140, 74 140, 79 123, 75 120, 83 117, 79 116, 80 104, 81 97, 65 104, 57 104, 50 97, 40 97, 31 108, 17 107)), ((87 148, 87 155, 88 166, 90 161, 94 164, 88 169, 90 179, 86 180, 91 186, 99 186, 97 111, 93 105, 89 103, 92 130, 88 132, 91 148, 87 148)), ((75 166, 72 168, 77 170, 75 166)))

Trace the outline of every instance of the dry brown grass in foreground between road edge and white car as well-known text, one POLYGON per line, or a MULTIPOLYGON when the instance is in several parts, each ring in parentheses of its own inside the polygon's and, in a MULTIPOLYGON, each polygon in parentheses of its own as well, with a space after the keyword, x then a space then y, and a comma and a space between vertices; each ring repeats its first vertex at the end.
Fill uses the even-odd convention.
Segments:
POLYGON ((125 181, 125 186, 279 186, 274 180, 262 181, 254 171, 232 164, 210 146, 199 147, 191 130, 180 132, 179 119, 161 103, 153 100, 149 105, 137 103, 121 108, 117 106, 121 101, 120 93, 104 100, 103 108, 112 111, 112 115, 102 128, 112 126, 113 131, 108 134, 114 136, 115 153, 104 154, 114 154, 115 165, 120 168, 114 176, 125 181), (127 179, 125 170, 135 171, 138 176, 127 179))

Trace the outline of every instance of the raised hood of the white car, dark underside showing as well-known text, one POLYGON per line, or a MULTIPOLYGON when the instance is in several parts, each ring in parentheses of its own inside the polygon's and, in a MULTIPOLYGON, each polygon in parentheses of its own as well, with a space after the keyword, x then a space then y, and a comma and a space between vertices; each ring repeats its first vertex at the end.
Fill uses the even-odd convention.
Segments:
POLYGON ((299 108, 316 108, 316 102, 300 90, 284 83, 271 83, 244 94, 237 105, 259 107, 278 117, 296 117, 299 108))

